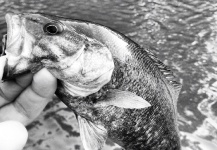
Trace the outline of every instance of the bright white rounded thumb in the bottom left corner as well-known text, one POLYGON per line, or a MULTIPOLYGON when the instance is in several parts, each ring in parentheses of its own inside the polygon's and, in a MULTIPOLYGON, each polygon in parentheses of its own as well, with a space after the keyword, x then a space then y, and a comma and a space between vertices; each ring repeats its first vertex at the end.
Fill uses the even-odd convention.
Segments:
POLYGON ((22 150, 27 138, 28 132, 20 122, 0 123, 0 150, 22 150))

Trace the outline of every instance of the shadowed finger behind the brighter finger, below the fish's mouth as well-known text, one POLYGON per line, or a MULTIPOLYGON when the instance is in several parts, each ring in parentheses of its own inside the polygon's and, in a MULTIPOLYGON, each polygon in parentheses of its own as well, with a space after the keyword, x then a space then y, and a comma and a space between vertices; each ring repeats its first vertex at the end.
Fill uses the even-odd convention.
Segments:
POLYGON ((15 80, 0 83, 0 107, 13 101, 31 82, 33 74, 24 74, 15 80))

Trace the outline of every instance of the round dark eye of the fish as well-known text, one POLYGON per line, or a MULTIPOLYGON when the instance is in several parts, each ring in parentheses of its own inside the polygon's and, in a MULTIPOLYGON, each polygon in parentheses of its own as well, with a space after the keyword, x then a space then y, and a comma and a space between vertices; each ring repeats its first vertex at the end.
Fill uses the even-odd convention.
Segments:
POLYGON ((55 35, 63 31, 63 26, 59 23, 48 23, 43 28, 44 32, 50 35, 55 35))

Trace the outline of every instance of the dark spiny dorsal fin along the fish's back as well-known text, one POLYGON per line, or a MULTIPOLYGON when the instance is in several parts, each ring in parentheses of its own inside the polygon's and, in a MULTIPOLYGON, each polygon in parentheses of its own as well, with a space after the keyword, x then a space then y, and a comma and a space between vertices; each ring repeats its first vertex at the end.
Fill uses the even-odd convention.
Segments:
POLYGON ((167 67, 164 63, 161 62, 150 50, 147 50, 149 57, 154 61, 155 65, 159 68, 160 72, 165 77, 166 81, 171 85, 174 89, 175 97, 174 99, 177 100, 182 85, 177 81, 177 78, 174 76, 173 72, 169 67, 167 67))

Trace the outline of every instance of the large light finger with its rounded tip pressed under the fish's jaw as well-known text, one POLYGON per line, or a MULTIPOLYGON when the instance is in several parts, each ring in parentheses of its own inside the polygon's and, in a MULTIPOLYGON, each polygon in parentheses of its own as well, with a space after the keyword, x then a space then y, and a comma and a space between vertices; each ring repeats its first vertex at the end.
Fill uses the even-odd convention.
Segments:
POLYGON ((11 104, 0 109, 0 121, 17 120, 27 125, 34 120, 52 99, 57 81, 46 69, 33 76, 33 81, 11 104))

